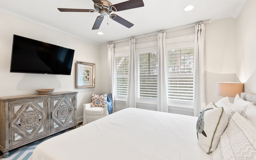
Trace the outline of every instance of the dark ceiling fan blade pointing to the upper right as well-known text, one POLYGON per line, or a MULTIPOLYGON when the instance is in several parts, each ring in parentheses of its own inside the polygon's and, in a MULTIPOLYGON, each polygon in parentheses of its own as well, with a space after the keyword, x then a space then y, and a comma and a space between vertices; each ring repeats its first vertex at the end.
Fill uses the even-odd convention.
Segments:
POLYGON ((142 6, 144 6, 144 3, 142 0, 130 0, 130 1, 125 1, 122 3, 111 5, 110 9, 112 11, 117 12, 117 11, 134 9, 142 6))

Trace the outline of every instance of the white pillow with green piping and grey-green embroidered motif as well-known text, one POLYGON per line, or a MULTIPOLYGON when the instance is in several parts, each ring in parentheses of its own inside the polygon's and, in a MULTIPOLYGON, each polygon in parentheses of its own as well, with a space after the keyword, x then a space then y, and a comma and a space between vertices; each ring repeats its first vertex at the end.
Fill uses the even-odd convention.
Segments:
POLYGON ((216 149, 227 124, 228 117, 223 107, 216 107, 213 102, 200 113, 196 124, 197 138, 207 154, 216 149))

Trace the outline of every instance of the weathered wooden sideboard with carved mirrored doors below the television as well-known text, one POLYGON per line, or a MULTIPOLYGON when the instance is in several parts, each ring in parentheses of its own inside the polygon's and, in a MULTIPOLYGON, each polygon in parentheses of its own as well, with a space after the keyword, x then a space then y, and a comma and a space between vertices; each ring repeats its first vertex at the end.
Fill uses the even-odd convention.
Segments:
POLYGON ((9 150, 77 125, 77 92, 0 98, 0 150, 9 150))

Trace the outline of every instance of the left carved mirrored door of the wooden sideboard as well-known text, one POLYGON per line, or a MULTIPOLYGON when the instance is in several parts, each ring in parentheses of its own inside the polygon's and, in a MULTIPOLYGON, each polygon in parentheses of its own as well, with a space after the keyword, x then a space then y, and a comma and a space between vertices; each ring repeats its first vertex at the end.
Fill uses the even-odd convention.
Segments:
POLYGON ((47 134, 47 99, 10 103, 10 146, 47 134))

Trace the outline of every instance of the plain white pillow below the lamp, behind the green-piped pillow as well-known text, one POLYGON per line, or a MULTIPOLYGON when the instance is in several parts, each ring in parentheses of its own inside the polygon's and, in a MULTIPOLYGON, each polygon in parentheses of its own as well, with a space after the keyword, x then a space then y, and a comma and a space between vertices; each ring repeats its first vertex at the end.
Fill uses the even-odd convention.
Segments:
MULTIPOLYGON (((233 103, 229 102, 228 97, 224 97, 220 99, 216 104, 217 107, 223 107, 225 110, 225 113, 227 114, 228 121, 229 119, 238 111, 239 113, 242 113, 242 110, 236 107, 233 103)), ((245 114, 243 114, 245 116, 245 114)))

